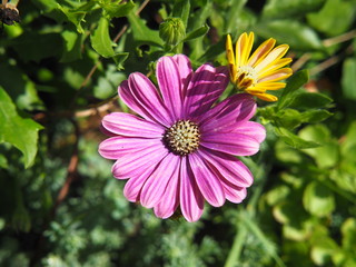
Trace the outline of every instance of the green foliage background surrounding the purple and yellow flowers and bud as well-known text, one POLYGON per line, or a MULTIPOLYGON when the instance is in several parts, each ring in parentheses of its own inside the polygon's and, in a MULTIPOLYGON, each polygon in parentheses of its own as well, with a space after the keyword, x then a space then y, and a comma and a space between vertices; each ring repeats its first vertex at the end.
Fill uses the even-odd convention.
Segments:
MULTIPOLYGON (((30 0, 0 36, 2 266, 356 266, 355 0, 30 0), (168 44, 159 24, 181 18, 168 44), (261 151, 241 205, 200 221, 128 202, 100 119, 132 71, 184 52, 226 65, 227 33, 290 46, 295 76, 258 102, 261 151), (299 71, 299 69, 304 69, 299 71), (308 71, 307 71, 308 69, 308 71), (309 79, 308 79, 309 73, 309 79)), ((229 87, 227 95, 231 93, 229 87)))

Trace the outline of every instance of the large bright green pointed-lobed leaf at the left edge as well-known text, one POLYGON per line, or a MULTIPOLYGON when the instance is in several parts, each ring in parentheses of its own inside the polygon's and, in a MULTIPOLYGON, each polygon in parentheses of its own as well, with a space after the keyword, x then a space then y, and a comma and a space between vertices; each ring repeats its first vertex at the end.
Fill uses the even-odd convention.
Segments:
POLYGON ((43 127, 18 115, 8 93, 0 87, 0 144, 9 142, 23 154, 24 167, 29 168, 37 154, 38 131, 43 127))

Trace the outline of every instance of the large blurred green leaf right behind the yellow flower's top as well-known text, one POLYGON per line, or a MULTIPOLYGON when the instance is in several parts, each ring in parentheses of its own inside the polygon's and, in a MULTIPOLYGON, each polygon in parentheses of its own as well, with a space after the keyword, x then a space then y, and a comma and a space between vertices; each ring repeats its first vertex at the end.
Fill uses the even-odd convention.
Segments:
POLYGON ((297 20, 261 20, 255 31, 266 39, 273 37, 278 42, 288 43, 293 49, 310 51, 324 49, 318 34, 297 20))

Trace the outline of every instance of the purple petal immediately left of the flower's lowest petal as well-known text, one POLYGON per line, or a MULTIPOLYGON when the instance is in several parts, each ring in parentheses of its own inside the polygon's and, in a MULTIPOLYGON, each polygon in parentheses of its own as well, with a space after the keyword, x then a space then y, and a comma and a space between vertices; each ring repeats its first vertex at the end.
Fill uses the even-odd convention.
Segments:
POLYGON ((169 218, 179 205, 179 171, 180 166, 171 176, 160 202, 155 207, 155 214, 159 218, 169 218))

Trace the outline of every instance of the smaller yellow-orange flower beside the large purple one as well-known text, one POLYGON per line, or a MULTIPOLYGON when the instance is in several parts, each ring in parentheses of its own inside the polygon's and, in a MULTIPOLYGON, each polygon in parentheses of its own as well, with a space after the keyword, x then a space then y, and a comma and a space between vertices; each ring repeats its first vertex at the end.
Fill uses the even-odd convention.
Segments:
POLYGON ((234 53, 231 37, 226 40, 226 53, 229 63, 230 79, 239 90, 248 92, 266 101, 278 98, 268 90, 279 90, 286 87, 279 82, 291 76, 290 68, 284 68, 291 62, 290 58, 283 58, 289 49, 287 44, 275 47, 276 40, 269 38, 250 56, 254 44, 254 32, 244 32, 236 42, 234 53))

